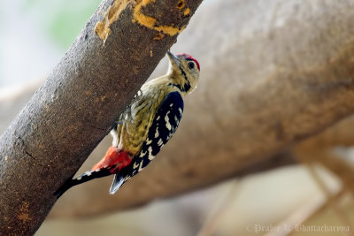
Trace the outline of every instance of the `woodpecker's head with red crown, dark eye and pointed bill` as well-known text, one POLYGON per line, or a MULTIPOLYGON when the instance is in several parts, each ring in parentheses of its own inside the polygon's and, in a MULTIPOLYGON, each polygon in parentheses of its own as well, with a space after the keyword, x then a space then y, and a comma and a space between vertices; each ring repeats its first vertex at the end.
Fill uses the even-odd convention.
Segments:
POLYGON ((195 88, 199 78, 200 66, 198 61, 189 54, 173 55, 167 51, 170 60, 168 74, 182 94, 189 94, 195 88))

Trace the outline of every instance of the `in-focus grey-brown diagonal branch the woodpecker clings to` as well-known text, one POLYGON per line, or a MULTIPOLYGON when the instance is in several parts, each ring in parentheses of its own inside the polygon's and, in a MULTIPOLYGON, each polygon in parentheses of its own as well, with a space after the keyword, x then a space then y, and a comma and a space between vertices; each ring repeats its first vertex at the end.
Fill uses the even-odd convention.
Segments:
POLYGON ((202 0, 104 1, 0 138, 0 232, 32 234, 202 0), (189 11, 187 11, 189 9, 189 11))

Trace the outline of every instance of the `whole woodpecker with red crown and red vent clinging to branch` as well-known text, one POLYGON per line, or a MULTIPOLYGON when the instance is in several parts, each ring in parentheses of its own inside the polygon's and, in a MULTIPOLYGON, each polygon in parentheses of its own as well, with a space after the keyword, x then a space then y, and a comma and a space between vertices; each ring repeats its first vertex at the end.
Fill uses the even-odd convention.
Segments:
POLYGON ((69 179, 55 193, 58 197, 70 187, 114 174, 110 194, 142 171, 171 139, 180 124, 183 98, 195 88, 199 78, 198 61, 189 54, 167 52, 168 72, 142 85, 133 101, 113 127, 112 147, 91 171, 69 179))

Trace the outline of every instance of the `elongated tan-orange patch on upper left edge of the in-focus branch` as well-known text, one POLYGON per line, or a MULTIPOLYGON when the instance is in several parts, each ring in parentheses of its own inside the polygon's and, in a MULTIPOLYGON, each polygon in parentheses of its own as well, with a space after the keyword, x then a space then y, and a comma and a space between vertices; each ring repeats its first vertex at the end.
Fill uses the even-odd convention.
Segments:
POLYGON ((120 12, 126 9, 128 0, 115 0, 112 5, 104 12, 104 20, 96 23, 95 33, 105 42, 111 34, 111 26, 114 21, 119 19, 120 12))

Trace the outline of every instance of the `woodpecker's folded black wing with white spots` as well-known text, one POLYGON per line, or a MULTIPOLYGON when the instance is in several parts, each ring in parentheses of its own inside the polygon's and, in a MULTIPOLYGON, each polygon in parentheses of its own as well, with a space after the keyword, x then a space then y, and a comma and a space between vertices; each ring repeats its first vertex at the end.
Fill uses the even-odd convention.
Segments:
POLYGON ((180 124, 183 113, 183 99, 180 93, 171 92, 162 101, 150 126, 148 137, 142 143, 139 155, 132 163, 116 174, 110 190, 114 194, 127 179, 132 178, 158 155, 158 152, 171 139, 180 124))

